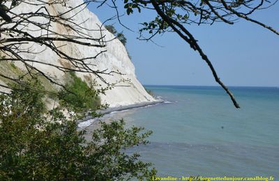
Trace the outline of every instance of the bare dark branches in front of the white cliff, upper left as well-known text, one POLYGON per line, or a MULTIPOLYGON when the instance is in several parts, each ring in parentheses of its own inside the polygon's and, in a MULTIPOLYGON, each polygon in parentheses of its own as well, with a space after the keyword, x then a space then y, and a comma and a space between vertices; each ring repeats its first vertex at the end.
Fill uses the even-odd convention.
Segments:
POLYGON ((85 28, 86 21, 82 23, 76 21, 90 2, 91 0, 81 1, 70 5, 68 0, 0 0, 0 79, 5 83, 0 84, 0 92, 3 91, 2 88, 13 89, 6 86, 7 83, 21 84, 22 79, 36 77, 38 74, 55 88, 57 86, 61 88, 63 84, 57 79, 59 76, 56 74, 57 70, 64 73, 73 71, 93 74, 105 85, 110 86, 100 75, 120 74, 120 72, 96 70, 91 61, 105 52, 98 49, 105 47, 105 40, 93 37, 96 35, 93 33, 96 29, 85 28), (57 8, 59 13, 54 10, 57 8), (61 31, 61 28, 47 28, 57 25, 65 27, 67 31, 61 31), (97 49, 92 54, 76 55, 69 52, 69 49, 61 49, 61 45, 68 43, 74 47, 97 47, 97 49), (51 57, 56 57, 59 63, 55 60, 50 61, 51 57, 42 56, 50 52, 53 53, 51 57), (20 70, 16 69, 13 63, 10 64, 11 62, 20 66, 20 70), (13 69, 1 68, 3 65, 13 69), (40 69, 42 66, 48 68, 42 70, 40 69), (49 71, 50 69, 54 71, 49 71))

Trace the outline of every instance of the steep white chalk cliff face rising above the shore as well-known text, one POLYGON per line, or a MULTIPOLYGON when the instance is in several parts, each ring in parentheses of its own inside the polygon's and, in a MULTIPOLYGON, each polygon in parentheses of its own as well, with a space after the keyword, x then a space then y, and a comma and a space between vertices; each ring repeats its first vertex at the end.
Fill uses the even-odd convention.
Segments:
MULTIPOLYGON (((67 6, 76 7, 79 6, 81 3, 83 3, 82 0, 70 0, 68 1, 67 6)), ((66 10, 69 9, 61 5, 53 5, 53 6, 45 6, 45 7, 52 15, 61 14, 63 12, 66 12, 66 10)), ((70 13, 67 13, 66 17, 73 17, 72 19, 73 22, 75 22, 76 24, 81 24, 81 26, 84 27, 84 29, 80 30, 81 31, 80 33, 89 34, 93 38, 100 38, 102 36, 105 37, 104 40, 106 46, 86 47, 86 46, 77 45, 73 43, 67 43, 67 45, 61 46, 60 49, 73 57, 93 57, 98 54, 96 58, 90 58, 89 60, 86 61, 87 63, 93 64, 92 69, 107 70, 107 72, 119 71, 122 73, 122 74, 113 74, 113 75, 108 75, 108 74, 101 75, 103 79, 105 79, 107 82, 111 84, 121 79, 130 79, 130 83, 127 82, 120 83, 118 84, 119 86, 115 86, 114 88, 112 88, 112 90, 106 91, 105 95, 100 95, 101 101, 103 103, 110 104, 110 107, 118 107, 118 106, 124 106, 129 104, 136 104, 140 102, 154 101, 153 97, 151 97, 148 93, 146 93, 142 84, 140 84, 140 82, 137 80, 137 77, 135 76, 135 67, 133 63, 130 61, 130 58, 128 57, 128 54, 126 52, 126 47, 124 47, 123 44, 118 39, 115 39, 112 33, 105 30, 104 27, 102 28, 104 31, 102 32, 98 31, 98 29, 100 29, 99 26, 101 26, 102 23, 99 21, 96 15, 91 13, 86 8, 82 10, 83 8, 84 6, 75 8, 70 13), (92 29, 96 31, 91 31, 92 29), (103 53, 99 54, 100 52, 103 53)), ((24 4, 24 7, 22 7, 21 5, 17 6, 15 9, 13 9, 13 12, 14 13, 34 12, 34 10, 37 9, 38 9, 37 6, 34 7, 32 5, 24 4)), ((36 20, 40 21, 40 19, 36 19, 36 20)), ((42 21, 44 21, 44 19, 42 19, 42 21)), ((38 27, 29 26, 28 29, 30 29, 31 31, 31 30, 38 29, 38 27)), ((73 32, 69 27, 61 26, 60 24, 52 24, 51 29, 61 34, 68 33, 68 34, 77 35, 77 33, 73 32)), ((39 36, 42 33, 43 31, 32 31, 33 36, 36 35, 39 36)), ((30 47, 30 45, 24 45, 24 46, 30 47)), ((60 46, 59 42, 57 43, 56 46, 60 46)), ((45 47, 39 45, 33 45, 32 49, 40 53, 22 54, 22 56, 24 58, 33 59, 40 62, 52 63, 60 66, 68 66, 68 64, 63 60, 61 60, 61 58, 57 56, 54 52, 52 52, 51 49, 45 49, 45 47)), ((24 69, 20 63, 15 63, 15 65, 17 65, 17 67, 24 69)), ((63 82, 64 73, 57 70, 56 68, 47 65, 42 65, 39 63, 33 65, 35 65, 36 68, 38 68, 38 70, 48 72, 50 75, 56 77, 56 79, 63 82)), ((88 77, 89 75, 85 73, 77 73, 77 76, 85 80, 86 77, 88 77)), ((101 81, 97 77, 94 77, 94 75, 92 74, 90 76, 93 79, 96 78, 98 84, 101 84, 103 87, 105 87, 103 81, 101 81)))

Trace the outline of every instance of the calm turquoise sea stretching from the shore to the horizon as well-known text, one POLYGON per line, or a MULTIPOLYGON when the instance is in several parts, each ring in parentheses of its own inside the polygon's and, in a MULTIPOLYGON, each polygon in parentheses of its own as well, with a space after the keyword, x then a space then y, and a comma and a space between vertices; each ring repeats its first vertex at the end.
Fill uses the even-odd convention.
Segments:
POLYGON ((160 176, 270 176, 279 180, 279 88, 232 87, 241 109, 218 87, 146 86, 167 100, 114 113, 128 127, 153 130, 139 152, 160 176))

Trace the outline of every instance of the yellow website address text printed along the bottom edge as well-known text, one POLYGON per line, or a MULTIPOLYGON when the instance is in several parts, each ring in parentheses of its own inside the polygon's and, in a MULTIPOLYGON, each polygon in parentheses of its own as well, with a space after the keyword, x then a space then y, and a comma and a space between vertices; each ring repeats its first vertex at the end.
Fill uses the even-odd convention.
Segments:
POLYGON ((269 177, 263 177, 263 176, 255 176, 255 177, 172 177, 172 176, 167 176, 167 177, 152 177, 152 180, 186 180, 186 181, 218 181, 218 180, 226 180, 226 181, 273 181, 274 177, 269 176, 269 177))

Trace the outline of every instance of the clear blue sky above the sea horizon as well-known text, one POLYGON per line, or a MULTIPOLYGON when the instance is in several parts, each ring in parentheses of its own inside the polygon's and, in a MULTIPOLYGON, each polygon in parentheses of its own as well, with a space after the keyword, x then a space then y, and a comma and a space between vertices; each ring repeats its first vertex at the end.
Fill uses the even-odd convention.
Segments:
MULTIPOLYGON (((122 1, 119 1, 122 2, 122 1)), ((89 10, 101 22, 115 15, 112 8, 89 10)), ((119 6, 122 15, 124 10, 119 6)), ((135 65, 137 79, 144 85, 193 85, 218 86, 209 67, 197 52, 190 48, 176 33, 156 36, 153 42, 137 40, 140 23, 155 17, 151 10, 123 15, 121 22, 115 19, 117 31, 127 38, 127 49, 135 65)), ((251 16, 279 31, 279 3, 269 9, 257 11, 251 16)), ((216 23, 187 25, 216 68, 218 76, 227 86, 276 86, 279 87, 279 36, 262 26, 239 20, 234 25, 216 23)))

